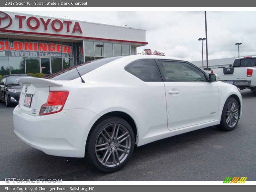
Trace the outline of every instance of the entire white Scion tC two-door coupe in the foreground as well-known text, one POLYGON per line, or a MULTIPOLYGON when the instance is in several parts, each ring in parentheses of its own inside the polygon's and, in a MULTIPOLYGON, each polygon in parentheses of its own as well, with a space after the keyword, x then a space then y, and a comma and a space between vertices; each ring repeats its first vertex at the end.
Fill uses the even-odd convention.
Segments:
POLYGON ((101 172, 121 169, 135 145, 213 125, 231 131, 242 115, 239 89, 171 57, 105 58, 17 81, 17 136, 49 155, 85 156, 101 172))

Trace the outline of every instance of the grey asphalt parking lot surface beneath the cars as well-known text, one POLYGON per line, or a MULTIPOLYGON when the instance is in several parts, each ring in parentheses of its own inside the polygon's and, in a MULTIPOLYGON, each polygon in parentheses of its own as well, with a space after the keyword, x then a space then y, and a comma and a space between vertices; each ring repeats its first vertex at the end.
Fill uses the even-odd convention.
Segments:
POLYGON ((28 146, 13 132, 14 107, 0 103, 0 180, 256 180, 256 97, 249 90, 241 93, 243 116, 234 131, 213 126, 137 147, 128 164, 110 174, 98 172, 84 158, 49 156, 28 146))

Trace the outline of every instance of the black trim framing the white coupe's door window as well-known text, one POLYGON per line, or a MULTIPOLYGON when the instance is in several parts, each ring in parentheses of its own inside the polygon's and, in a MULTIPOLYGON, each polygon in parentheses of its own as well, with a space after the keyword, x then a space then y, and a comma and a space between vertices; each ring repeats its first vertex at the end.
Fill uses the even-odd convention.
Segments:
POLYGON ((162 80, 163 82, 193 82, 193 83, 209 83, 209 75, 207 75, 206 72, 204 72, 204 70, 202 70, 201 68, 199 67, 196 67, 195 65, 193 65, 192 63, 188 62, 188 61, 182 61, 182 60, 170 60, 170 59, 154 59, 155 62, 156 62, 156 65, 157 65, 157 68, 158 70, 160 71, 160 74, 161 74, 161 77, 162 77, 162 80), (160 66, 160 63, 159 61, 168 61, 168 62, 177 62, 177 63, 187 63, 189 64, 190 66, 198 69, 199 71, 201 71, 205 77, 205 81, 168 81, 165 79, 165 76, 164 76, 164 73, 161 69, 161 66, 160 66))

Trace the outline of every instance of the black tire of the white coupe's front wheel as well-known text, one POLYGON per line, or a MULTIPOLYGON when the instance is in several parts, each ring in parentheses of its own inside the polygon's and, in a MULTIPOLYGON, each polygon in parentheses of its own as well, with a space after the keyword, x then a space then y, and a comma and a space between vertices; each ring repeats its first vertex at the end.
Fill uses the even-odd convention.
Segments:
POLYGON ((236 128, 239 120, 240 108, 234 97, 229 97, 222 110, 220 124, 217 127, 223 131, 232 131, 236 128), (234 104, 234 109, 229 110, 234 104), (229 117, 229 118, 228 118, 229 117), (229 119, 229 121, 228 121, 229 119))

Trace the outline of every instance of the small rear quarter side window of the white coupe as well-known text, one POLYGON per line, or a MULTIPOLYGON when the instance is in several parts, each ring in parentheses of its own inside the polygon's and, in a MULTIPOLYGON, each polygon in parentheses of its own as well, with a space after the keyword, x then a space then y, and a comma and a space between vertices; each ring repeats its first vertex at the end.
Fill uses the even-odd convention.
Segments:
POLYGON ((156 63, 152 59, 135 60, 126 65, 124 69, 145 82, 162 81, 156 63))

